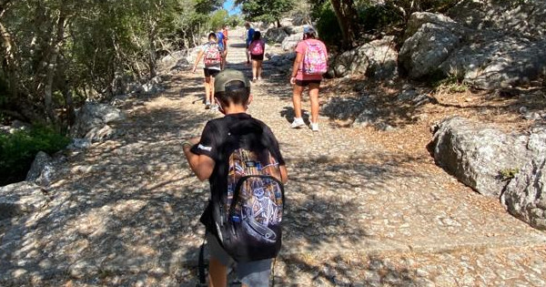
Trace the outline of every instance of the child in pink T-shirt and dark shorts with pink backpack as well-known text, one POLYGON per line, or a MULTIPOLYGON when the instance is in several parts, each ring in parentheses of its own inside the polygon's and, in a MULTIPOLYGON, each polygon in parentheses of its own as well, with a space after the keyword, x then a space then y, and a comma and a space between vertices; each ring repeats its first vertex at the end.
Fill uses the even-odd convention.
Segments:
POLYGON ((303 30, 303 41, 296 47, 296 59, 292 67, 290 84, 294 86, 292 103, 294 104, 294 121, 291 128, 305 126, 301 118, 301 94, 309 87, 311 100, 311 129, 319 131, 319 87, 322 75, 328 70, 328 52, 317 33, 310 26, 303 30))

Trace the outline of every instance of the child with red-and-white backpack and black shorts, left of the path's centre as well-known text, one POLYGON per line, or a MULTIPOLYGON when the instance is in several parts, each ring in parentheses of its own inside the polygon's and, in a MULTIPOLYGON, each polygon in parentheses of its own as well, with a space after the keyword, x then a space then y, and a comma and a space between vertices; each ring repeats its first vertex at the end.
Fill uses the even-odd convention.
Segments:
POLYGON ((214 103, 214 77, 220 72, 222 64, 222 50, 217 45, 215 33, 208 34, 207 44, 200 47, 192 69, 194 73, 201 58, 203 58, 203 72, 205 74, 205 108, 217 108, 216 106, 211 107, 211 105, 214 103))

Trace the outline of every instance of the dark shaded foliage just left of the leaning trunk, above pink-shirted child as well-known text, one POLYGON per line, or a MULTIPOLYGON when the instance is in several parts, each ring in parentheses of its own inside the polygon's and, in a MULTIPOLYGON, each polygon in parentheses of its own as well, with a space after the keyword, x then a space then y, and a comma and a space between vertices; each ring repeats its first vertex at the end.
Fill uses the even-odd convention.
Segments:
POLYGON ((341 28, 339 28, 338 18, 332 5, 329 2, 316 5, 312 17, 317 19, 316 28, 320 39, 329 46, 338 46, 340 44, 341 28))

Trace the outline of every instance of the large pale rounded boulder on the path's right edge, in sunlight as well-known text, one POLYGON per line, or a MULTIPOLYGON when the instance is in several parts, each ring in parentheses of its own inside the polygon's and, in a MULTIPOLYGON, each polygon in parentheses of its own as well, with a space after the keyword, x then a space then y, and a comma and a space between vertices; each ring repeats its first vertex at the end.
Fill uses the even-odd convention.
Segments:
POLYGON ((464 184, 480 194, 500 197, 508 183, 501 172, 521 169, 530 154, 541 149, 528 147, 530 142, 526 135, 507 135, 496 128, 453 117, 435 127, 429 149, 436 163, 464 184))

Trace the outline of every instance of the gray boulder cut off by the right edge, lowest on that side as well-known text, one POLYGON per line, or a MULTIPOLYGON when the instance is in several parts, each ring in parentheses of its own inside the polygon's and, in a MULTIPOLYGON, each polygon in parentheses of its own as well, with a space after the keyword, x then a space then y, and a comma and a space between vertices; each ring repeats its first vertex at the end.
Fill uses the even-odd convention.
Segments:
POLYGON ((531 159, 511 179, 501 202, 513 216, 546 231, 546 157, 531 159))

